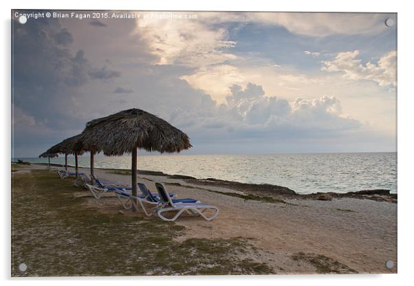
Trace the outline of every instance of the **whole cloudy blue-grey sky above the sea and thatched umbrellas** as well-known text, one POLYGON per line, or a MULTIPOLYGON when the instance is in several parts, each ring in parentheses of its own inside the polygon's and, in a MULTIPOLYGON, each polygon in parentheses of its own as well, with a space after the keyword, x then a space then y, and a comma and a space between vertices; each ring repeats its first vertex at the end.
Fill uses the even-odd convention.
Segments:
POLYGON ((72 12, 12 12, 14 157, 131 108, 185 154, 396 151, 396 14, 72 12))

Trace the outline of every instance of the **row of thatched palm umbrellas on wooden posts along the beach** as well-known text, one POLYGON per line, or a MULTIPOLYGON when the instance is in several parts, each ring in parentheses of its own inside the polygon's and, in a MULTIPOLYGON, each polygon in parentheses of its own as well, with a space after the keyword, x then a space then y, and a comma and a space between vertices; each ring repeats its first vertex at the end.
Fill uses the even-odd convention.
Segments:
MULTIPOLYGON (((103 152, 107 156, 132 154, 131 186, 132 195, 137 195, 137 154, 138 148, 160 153, 175 153, 191 147, 186 133, 165 120, 141 109, 128 109, 87 122, 82 133, 69 137, 49 148, 39 157, 56 157, 65 154, 75 156, 76 176, 78 155, 89 152, 90 170, 94 175, 94 155, 103 152)), ((135 206, 133 210, 136 211, 135 206)))

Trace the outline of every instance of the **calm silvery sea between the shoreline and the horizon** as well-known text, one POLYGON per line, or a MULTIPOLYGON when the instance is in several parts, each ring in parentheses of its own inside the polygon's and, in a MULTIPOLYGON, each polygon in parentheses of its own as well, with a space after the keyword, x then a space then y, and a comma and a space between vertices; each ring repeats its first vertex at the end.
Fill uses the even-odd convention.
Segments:
MULTIPOLYGON (((15 158, 47 162, 47 158, 15 158)), ((52 158, 64 164, 65 157, 52 158)), ((89 156, 79 157, 89 167, 89 156)), ((68 164, 74 165, 73 156, 68 164)), ((131 157, 95 159, 98 168, 131 168, 131 157)), ((138 169, 208 177, 250 184, 274 184, 308 194, 389 189, 397 192, 397 153, 322 153, 267 155, 138 155, 138 169)))

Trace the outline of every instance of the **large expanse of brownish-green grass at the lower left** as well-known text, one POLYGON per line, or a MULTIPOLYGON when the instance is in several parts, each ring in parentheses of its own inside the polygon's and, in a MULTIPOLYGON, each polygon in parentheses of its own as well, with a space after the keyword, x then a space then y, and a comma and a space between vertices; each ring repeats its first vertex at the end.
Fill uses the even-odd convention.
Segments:
POLYGON ((12 175, 12 276, 274 272, 251 259, 248 239, 176 240, 184 227, 99 211, 86 203, 89 192, 82 192, 46 170, 12 175), (28 270, 19 272, 20 263, 28 270))

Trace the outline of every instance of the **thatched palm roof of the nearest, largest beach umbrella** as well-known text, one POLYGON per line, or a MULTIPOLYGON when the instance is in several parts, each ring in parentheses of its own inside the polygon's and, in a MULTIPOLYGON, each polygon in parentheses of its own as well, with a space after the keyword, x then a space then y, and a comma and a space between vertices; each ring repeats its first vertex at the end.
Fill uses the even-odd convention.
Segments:
POLYGON ((87 122, 82 133, 85 148, 105 155, 131 153, 133 148, 174 153, 191 146, 186 133, 141 109, 128 109, 87 122))

